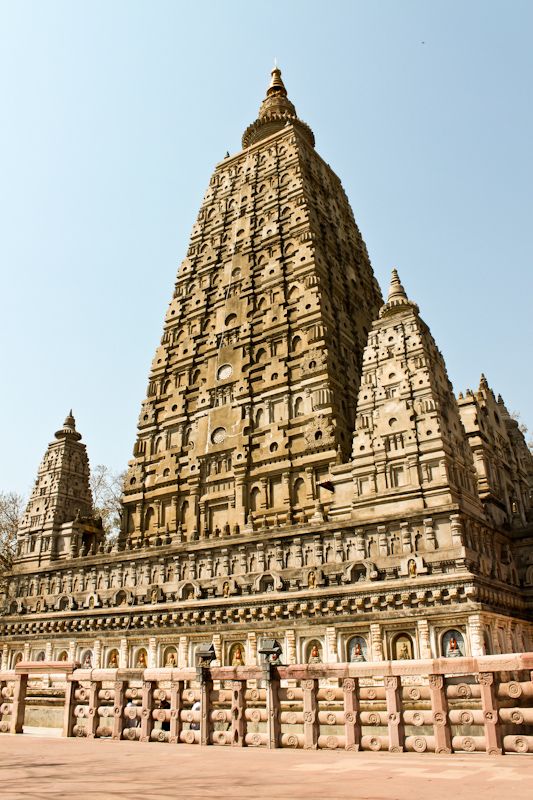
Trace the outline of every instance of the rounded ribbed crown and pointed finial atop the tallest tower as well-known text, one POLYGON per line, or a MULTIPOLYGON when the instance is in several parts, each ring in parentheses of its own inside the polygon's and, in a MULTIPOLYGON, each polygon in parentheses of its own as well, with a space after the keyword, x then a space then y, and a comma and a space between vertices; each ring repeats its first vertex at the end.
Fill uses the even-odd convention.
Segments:
POLYGON ((266 97, 259 108, 255 122, 249 125, 242 137, 242 146, 250 145, 277 133, 287 124, 297 127, 305 138, 314 146, 315 137, 311 128, 298 119, 296 109, 287 96, 287 89, 281 77, 281 70, 276 65, 272 69, 270 84, 266 97))

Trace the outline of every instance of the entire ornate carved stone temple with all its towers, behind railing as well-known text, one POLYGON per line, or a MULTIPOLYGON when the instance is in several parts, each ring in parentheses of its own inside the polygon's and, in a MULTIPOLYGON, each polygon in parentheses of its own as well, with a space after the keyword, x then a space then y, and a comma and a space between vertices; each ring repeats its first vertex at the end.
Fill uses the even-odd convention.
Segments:
POLYGON ((39 468, 3 669, 533 649, 531 453, 484 377, 455 397, 395 270, 383 301, 277 68, 193 226, 114 543, 80 439, 69 414, 39 468))

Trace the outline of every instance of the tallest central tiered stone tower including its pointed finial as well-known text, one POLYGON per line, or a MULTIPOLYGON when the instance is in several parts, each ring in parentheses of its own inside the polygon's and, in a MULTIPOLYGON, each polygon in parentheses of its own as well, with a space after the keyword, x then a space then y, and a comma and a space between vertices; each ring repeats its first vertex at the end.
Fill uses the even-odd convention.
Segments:
POLYGON ((150 371, 122 542, 304 522, 347 459, 381 295, 278 68, 217 165, 150 371))

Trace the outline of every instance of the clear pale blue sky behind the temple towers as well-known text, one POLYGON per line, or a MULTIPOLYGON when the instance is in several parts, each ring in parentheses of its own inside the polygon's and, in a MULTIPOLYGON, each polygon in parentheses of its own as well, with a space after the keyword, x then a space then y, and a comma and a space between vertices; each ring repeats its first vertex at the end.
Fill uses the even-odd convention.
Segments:
POLYGON ((277 56, 456 391, 533 427, 533 3, 0 0, 0 489, 125 468, 175 273, 277 56))

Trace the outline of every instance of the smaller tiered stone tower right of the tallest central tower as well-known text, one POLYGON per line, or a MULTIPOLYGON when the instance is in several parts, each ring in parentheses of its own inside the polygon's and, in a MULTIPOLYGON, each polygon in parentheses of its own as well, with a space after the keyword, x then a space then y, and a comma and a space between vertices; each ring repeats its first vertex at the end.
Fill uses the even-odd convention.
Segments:
POLYGON ((368 337, 353 443, 354 509, 457 504, 482 517, 472 451, 441 353, 393 270, 368 337))

